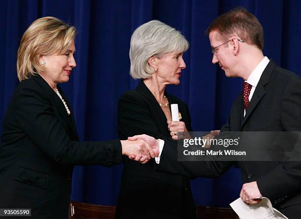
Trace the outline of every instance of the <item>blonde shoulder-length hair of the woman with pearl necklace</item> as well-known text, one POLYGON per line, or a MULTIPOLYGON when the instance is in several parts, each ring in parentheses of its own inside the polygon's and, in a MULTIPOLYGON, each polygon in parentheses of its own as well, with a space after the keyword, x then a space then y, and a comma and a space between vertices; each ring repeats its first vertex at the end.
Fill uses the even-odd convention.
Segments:
POLYGON ((65 53, 74 40, 76 30, 55 17, 43 17, 35 20, 24 32, 17 56, 19 81, 42 72, 40 56, 65 53))

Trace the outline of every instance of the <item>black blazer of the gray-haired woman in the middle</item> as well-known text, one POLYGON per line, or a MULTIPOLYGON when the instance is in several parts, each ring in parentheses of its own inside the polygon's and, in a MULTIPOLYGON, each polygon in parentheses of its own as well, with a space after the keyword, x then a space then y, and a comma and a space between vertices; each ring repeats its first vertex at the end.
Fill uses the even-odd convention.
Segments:
MULTIPOLYGON (((187 129, 191 130, 187 105, 165 92, 170 104, 178 103, 187 129)), ((143 81, 135 90, 125 92, 118 103, 120 139, 148 134, 171 140, 167 119, 143 81)), ((124 168, 117 204, 117 219, 195 219, 196 213, 187 177, 155 171, 155 160, 140 164, 123 158, 124 168)))

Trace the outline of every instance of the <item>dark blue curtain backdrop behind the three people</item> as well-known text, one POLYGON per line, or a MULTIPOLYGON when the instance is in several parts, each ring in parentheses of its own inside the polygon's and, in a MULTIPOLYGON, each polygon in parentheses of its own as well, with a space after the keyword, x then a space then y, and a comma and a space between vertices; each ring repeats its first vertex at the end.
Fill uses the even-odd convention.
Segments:
MULTIPOLYGON (((138 84, 129 76, 131 33, 157 19, 180 30, 190 42, 181 85, 167 90, 189 105, 194 130, 219 129, 241 92, 242 80, 226 78, 211 63, 204 31, 215 17, 239 5, 261 22, 264 54, 300 74, 300 0, 0 0, 0 120, 18 84, 16 55, 23 32, 35 19, 55 16, 78 30, 77 67, 61 87, 72 104, 81 141, 118 138, 118 98, 138 84)), ((121 170, 122 165, 77 166, 72 200, 116 205, 121 170)), ((218 179, 191 181, 196 204, 228 206, 239 197, 240 177, 239 169, 232 168, 218 179)))

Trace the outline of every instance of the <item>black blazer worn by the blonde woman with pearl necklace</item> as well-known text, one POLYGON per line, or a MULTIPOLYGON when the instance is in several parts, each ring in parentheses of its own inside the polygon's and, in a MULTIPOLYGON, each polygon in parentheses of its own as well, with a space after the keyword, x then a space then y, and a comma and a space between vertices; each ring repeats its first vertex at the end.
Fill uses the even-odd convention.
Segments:
POLYGON ((73 165, 121 162, 119 140, 78 142, 71 111, 38 76, 22 81, 3 119, 0 206, 30 208, 31 218, 66 219, 73 165))

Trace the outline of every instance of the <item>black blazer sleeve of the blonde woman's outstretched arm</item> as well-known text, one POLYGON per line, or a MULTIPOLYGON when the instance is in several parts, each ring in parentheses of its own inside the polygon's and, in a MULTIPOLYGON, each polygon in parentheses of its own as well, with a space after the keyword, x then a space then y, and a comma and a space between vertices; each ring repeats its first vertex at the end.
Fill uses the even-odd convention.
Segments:
POLYGON ((41 89, 21 85, 12 99, 11 110, 17 125, 28 134, 31 141, 61 164, 110 166, 121 162, 119 140, 70 141, 50 99, 41 89))

